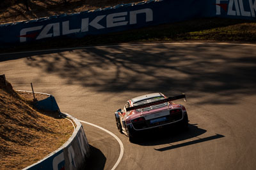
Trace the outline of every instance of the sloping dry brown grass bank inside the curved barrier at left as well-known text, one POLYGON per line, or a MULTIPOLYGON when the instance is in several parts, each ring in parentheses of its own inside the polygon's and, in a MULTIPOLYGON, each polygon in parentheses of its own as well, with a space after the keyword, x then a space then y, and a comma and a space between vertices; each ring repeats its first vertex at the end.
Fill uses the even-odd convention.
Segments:
POLYGON ((0 81, 0 169, 22 169, 43 159, 74 131, 58 113, 36 111, 31 99, 0 81))

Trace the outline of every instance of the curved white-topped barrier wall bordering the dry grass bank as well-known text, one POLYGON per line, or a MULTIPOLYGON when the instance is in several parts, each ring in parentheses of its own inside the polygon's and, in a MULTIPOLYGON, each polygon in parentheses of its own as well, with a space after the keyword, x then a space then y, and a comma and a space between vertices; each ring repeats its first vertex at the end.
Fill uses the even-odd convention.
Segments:
MULTIPOLYGON (((20 92, 29 92, 24 90, 17 90, 20 92)), ((44 94, 35 92, 37 94, 44 94)), ((51 97, 51 104, 55 106, 56 101, 50 94, 45 94, 51 97)), ((47 98, 48 99, 48 98, 47 98)), ((44 101, 44 100, 43 100, 44 101)), ((40 101, 38 104, 40 106, 40 101)), ((57 104, 58 106, 58 104, 57 104)), ((43 107, 44 108, 44 107, 43 107)), ((56 110, 55 110, 56 111, 56 110)), ((61 112, 60 112, 61 113, 61 112)), ((68 113, 61 113, 66 118, 69 118, 76 124, 72 136, 66 141, 58 150, 47 155, 44 159, 39 160, 31 166, 25 167, 24 170, 37 170, 37 169, 49 169, 49 170, 64 170, 64 169, 81 169, 86 165, 86 159, 90 157, 90 146, 84 133, 83 126, 77 120, 77 118, 68 115, 68 113)))

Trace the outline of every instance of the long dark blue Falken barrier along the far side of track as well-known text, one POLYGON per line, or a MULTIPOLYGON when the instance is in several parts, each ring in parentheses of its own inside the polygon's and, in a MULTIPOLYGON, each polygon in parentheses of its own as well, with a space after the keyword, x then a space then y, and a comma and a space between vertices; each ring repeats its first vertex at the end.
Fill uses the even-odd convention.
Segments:
POLYGON ((92 34, 137 29, 192 18, 225 17, 255 20, 256 0, 162 0, 120 4, 103 10, 83 11, 0 25, 0 45, 42 39, 83 38, 92 34))

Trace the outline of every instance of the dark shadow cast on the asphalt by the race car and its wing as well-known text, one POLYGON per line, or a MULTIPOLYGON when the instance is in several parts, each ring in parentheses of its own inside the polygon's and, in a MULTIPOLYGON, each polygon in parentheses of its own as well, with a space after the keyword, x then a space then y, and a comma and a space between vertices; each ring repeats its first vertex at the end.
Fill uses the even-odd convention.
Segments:
POLYGON ((189 124, 189 128, 186 131, 179 129, 163 129, 163 131, 150 132, 150 134, 143 134, 139 138, 136 138, 135 144, 142 146, 157 146, 168 144, 164 148, 157 148, 155 150, 163 152, 165 150, 172 150, 175 148, 180 148, 183 146, 194 145, 197 143, 202 143, 205 141, 210 141, 218 138, 223 138, 225 136, 221 134, 215 134, 212 136, 207 136, 205 138, 199 138, 198 136, 207 132, 205 129, 200 129, 196 125, 189 124), (193 139, 196 138, 196 139, 193 139), (189 139, 189 141, 188 141, 189 139), (193 139, 193 140, 191 140, 193 139), (180 143, 184 141, 183 143, 180 143), (179 143, 172 145, 172 143, 179 143))

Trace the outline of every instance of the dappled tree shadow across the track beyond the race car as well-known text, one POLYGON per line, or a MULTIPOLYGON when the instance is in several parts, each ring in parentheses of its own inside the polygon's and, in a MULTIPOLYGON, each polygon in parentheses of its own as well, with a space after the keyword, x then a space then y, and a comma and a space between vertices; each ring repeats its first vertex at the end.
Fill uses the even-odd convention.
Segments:
MULTIPOLYGON (((22 54, 29 67, 56 74, 97 92, 216 94, 198 104, 236 104, 236 94, 254 95, 256 49, 241 45, 102 46, 22 54)), ((10 57, 17 58, 18 55, 10 57)), ((127 96, 129 97, 134 96, 127 96)))

